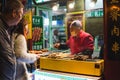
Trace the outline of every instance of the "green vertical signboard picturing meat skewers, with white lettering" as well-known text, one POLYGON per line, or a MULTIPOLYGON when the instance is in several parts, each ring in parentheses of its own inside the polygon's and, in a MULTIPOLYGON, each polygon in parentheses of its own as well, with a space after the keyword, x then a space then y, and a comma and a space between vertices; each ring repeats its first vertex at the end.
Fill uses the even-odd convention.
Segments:
POLYGON ((43 46, 43 18, 40 16, 33 16, 32 23, 33 49, 39 50, 42 49, 43 46))

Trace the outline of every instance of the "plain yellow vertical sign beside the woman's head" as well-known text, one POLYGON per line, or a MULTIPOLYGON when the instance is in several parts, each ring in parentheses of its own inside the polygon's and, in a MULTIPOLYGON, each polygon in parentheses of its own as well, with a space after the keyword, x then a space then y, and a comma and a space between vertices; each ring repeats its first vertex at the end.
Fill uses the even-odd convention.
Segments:
POLYGON ((26 12, 24 18, 28 21, 29 33, 27 35, 27 39, 32 39, 32 11, 26 12))

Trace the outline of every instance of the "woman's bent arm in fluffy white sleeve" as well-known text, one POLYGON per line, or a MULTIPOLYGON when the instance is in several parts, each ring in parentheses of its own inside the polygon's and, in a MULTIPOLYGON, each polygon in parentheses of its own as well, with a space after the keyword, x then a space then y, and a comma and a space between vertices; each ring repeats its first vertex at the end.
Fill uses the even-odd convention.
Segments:
POLYGON ((22 62, 33 63, 37 60, 36 54, 27 53, 27 43, 23 35, 19 35, 15 40, 15 54, 17 60, 22 62))

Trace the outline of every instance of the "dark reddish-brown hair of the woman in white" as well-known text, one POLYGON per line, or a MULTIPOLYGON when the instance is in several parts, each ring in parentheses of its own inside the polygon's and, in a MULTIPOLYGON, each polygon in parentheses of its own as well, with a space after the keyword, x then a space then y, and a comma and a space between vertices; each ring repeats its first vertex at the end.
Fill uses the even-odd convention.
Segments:
POLYGON ((28 24, 27 20, 25 18, 22 18, 22 20, 17 25, 15 33, 24 35, 24 29, 27 24, 28 24))

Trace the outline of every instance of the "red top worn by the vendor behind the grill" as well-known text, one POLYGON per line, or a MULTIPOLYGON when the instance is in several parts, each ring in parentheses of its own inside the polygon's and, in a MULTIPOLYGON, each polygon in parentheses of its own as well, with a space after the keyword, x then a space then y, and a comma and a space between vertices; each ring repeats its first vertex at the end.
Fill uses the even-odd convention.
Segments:
POLYGON ((77 54, 86 49, 94 49, 93 37, 83 30, 80 31, 79 36, 77 37, 70 36, 67 45, 70 47, 71 54, 77 54))

